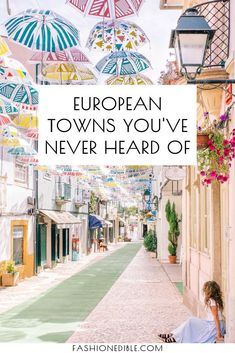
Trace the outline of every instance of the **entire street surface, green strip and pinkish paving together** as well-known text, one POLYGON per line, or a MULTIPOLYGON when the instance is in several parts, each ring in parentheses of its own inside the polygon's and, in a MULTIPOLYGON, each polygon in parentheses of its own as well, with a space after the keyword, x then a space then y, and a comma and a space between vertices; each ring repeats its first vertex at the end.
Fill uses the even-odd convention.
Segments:
POLYGON ((157 342, 189 315, 164 268, 132 243, 3 313, 0 342, 157 342))

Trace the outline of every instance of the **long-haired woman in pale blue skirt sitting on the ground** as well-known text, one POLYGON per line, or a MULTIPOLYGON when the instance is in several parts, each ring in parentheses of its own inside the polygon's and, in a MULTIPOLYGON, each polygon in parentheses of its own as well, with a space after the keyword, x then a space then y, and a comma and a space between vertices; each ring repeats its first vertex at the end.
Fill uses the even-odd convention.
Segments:
POLYGON ((224 308, 220 286, 208 281, 203 286, 207 320, 192 317, 169 334, 158 336, 166 343, 215 343, 224 339, 224 308))

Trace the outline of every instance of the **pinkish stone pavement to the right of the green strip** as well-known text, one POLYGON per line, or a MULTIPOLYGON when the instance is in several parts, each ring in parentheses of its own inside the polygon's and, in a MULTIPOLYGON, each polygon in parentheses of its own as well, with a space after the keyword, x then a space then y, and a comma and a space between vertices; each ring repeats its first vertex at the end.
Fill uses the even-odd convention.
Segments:
POLYGON ((70 343, 159 342, 191 315, 163 266, 141 248, 70 343))

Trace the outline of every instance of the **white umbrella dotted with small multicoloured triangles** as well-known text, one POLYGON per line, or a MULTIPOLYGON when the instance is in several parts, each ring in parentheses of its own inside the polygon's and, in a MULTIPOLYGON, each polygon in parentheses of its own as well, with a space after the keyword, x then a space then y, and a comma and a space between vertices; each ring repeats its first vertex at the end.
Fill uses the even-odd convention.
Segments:
POLYGON ((103 51, 137 50, 147 41, 146 34, 135 23, 103 21, 93 27, 86 46, 103 51))

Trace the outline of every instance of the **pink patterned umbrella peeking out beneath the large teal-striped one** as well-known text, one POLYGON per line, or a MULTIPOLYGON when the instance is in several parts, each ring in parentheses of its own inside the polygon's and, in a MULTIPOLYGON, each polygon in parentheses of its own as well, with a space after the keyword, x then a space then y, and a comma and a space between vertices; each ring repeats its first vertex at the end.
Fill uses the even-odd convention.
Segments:
POLYGON ((71 63, 90 63, 88 57, 78 48, 71 48, 64 51, 58 51, 55 53, 42 53, 34 52, 33 56, 29 60, 32 64, 40 63, 62 63, 62 62, 71 62, 71 63))

